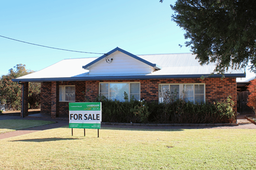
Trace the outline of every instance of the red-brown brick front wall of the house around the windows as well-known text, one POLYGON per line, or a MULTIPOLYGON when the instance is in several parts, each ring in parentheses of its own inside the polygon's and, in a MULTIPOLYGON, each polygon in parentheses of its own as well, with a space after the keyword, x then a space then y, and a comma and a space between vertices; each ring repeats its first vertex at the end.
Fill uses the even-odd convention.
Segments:
MULTIPOLYGON (((213 103, 216 100, 232 97, 234 111, 237 111, 236 78, 207 78, 198 79, 153 79, 153 80, 111 80, 111 81, 67 81, 59 85, 75 85, 75 102, 94 101, 99 94, 99 82, 140 82, 141 99, 158 102, 158 84, 162 83, 205 83, 205 99, 213 103)), ((41 85, 41 112, 51 112, 51 82, 41 85), (49 106, 50 105, 50 106, 49 106), (46 107, 46 108, 43 108, 46 107)), ((58 97, 56 98, 58 99, 58 97)), ((59 102, 59 115, 68 115, 68 103, 59 102)))

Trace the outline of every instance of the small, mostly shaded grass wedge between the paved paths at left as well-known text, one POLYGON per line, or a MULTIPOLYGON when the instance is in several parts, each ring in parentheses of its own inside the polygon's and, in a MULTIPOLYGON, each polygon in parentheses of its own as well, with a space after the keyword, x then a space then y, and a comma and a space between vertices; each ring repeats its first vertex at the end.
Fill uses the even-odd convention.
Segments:
POLYGON ((44 121, 44 120, 0 120, 0 134, 16 131, 20 129, 32 128, 36 126, 41 126, 45 124, 55 123, 54 121, 44 121))

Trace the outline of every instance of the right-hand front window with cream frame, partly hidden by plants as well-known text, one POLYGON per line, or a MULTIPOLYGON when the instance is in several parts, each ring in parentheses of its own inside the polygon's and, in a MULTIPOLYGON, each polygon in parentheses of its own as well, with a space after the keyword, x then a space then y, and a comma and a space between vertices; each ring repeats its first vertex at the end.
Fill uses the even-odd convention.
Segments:
POLYGON ((205 102, 204 84, 159 84, 159 102, 168 101, 166 94, 177 94, 177 98, 182 97, 185 101, 194 103, 205 102))

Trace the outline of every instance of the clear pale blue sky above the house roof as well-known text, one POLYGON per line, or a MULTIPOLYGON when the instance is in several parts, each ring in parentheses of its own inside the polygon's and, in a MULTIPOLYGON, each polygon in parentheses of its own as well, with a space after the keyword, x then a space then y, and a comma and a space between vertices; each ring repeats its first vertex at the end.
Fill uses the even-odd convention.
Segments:
MULTIPOLYGON (((174 0, 1 1, 0 35, 84 52, 119 47, 132 54, 190 52, 184 31, 171 21, 174 0)), ((0 75, 17 64, 38 71, 65 58, 97 57, 0 37, 0 75)))

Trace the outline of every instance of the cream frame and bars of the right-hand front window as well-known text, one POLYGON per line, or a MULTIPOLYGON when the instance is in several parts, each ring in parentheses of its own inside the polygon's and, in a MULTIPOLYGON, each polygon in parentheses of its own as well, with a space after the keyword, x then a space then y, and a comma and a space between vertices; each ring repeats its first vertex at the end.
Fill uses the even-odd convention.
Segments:
MULTIPOLYGON (((195 85, 203 85, 203 90, 204 90, 204 94, 203 94, 203 98, 204 98, 204 102, 205 102, 205 83, 161 83, 158 84, 158 102, 161 103, 163 102, 163 100, 161 99, 160 96, 160 92, 159 90, 161 90, 161 85, 169 85, 169 89, 170 89, 170 85, 179 85, 179 98, 183 98, 183 86, 184 85, 193 85, 193 103, 195 104, 195 85)), ((196 95, 202 95, 202 94, 196 94, 196 95)))

